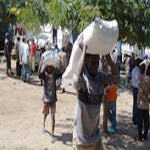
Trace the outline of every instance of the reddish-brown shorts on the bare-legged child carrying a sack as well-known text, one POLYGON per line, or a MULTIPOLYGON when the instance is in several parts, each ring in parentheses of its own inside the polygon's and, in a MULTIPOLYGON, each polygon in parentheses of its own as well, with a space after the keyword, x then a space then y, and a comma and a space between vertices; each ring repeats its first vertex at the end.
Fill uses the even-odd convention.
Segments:
POLYGON ((46 103, 44 102, 43 114, 48 115, 49 109, 51 109, 51 115, 55 115, 56 112, 56 102, 46 103))

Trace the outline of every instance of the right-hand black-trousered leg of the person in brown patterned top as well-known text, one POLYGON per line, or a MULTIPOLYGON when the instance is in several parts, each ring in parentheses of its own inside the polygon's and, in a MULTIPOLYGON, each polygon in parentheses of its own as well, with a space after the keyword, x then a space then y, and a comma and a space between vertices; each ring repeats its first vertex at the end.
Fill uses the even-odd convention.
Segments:
POLYGON ((144 139, 147 140, 148 130, 149 130, 149 111, 144 110, 143 111, 143 117, 144 117, 144 139))

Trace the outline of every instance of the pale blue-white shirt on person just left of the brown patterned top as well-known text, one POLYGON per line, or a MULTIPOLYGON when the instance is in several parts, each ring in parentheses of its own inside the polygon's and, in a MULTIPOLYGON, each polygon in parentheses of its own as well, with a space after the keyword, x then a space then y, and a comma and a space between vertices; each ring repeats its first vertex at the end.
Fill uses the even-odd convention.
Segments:
POLYGON ((134 88, 138 88, 138 81, 139 81, 139 78, 141 77, 141 72, 140 72, 140 69, 139 67, 134 67, 132 72, 131 72, 131 77, 132 77, 132 86, 134 88))

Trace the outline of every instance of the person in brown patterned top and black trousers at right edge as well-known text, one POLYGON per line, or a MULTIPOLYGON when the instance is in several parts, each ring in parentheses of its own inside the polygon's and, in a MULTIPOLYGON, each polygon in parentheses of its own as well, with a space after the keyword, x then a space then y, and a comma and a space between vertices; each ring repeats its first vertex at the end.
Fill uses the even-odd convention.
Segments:
POLYGON ((140 66, 141 77, 138 83, 138 100, 137 100, 137 123, 138 123, 138 140, 147 140, 149 130, 149 102, 150 102, 150 65, 146 75, 145 64, 140 66), (144 133, 142 133, 144 125, 144 133))

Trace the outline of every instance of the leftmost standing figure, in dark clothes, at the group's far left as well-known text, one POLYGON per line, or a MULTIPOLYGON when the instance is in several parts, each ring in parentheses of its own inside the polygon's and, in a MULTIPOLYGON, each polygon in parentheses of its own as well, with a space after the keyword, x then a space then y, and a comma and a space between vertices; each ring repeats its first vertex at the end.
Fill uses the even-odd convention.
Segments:
POLYGON ((12 46, 9 38, 9 33, 6 33, 5 35, 5 44, 4 44, 4 54, 6 57, 6 72, 9 77, 13 75, 11 71, 11 52, 12 52, 12 46))

